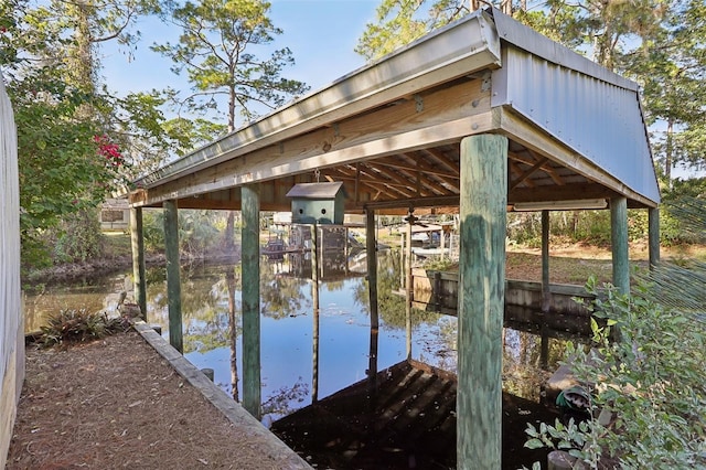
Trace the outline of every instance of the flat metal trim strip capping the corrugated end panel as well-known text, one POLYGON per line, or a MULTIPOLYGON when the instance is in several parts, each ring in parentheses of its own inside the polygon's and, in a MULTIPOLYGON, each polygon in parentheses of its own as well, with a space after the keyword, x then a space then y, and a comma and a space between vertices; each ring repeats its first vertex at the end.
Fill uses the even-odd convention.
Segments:
POLYGON ((516 47, 527 51, 531 54, 539 56, 554 64, 571 68, 576 72, 580 72, 622 88, 632 89, 634 92, 639 90, 639 85, 637 83, 598 65, 581 54, 578 54, 555 41, 552 41, 550 39, 534 31, 532 28, 513 20, 511 17, 504 14, 494 7, 491 11, 493 20, 495 21, 498 35, 502 41, 506 41, 516 47))

